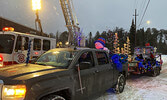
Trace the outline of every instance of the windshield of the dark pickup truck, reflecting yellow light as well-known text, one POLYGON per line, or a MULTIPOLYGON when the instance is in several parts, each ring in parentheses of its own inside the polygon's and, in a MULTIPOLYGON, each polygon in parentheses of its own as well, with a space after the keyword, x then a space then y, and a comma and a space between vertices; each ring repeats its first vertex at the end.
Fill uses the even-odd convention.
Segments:
POLYGON ((52 51, 43 54, 35 64, 67 68, 77 51, 52 51))

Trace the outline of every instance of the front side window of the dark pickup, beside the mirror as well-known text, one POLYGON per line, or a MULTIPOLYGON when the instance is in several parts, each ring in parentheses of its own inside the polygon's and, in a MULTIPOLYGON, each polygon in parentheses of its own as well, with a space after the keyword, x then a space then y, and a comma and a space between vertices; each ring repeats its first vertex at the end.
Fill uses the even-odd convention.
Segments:
POLYGON ((89 67, 93 67, 94 64, 94 59, 93 59, 93 54, 92 52, 85 52, 83 53, 80 58, 79 58, 79 63, 89 63, 89 67))

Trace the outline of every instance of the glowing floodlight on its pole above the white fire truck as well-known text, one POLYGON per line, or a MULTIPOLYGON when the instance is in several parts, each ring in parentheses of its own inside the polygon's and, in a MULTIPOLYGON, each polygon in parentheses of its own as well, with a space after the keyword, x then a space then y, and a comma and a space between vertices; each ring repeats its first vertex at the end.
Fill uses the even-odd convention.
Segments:
POLYGON ((35 19, 35 28, 37 30, 37 24, 40 29, 41 35, 43 35, 41 21, 39 19, 38 11, 41 9, 41 0, 32 0, 32 9, 35 11, 36 19, 35 19))

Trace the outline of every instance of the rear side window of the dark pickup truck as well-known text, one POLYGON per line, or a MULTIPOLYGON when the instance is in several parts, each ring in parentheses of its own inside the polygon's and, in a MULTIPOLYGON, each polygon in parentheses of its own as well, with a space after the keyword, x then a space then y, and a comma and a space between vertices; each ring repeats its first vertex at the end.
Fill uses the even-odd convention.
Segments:
POLYGON ((108 64, 108 57, 105 52, 96 52, 96 57, 99 65, 108 64))

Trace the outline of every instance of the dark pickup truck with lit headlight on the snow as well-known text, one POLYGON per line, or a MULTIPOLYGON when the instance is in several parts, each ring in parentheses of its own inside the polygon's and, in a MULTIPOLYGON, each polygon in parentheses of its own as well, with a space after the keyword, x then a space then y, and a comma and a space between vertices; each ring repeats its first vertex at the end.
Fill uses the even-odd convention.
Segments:
POLYGON ((92 100, 109 88, 121 93, 128 65, 119 72, 97 49, 52 49, 33 64, 0 68, 1 100, 92 100))

